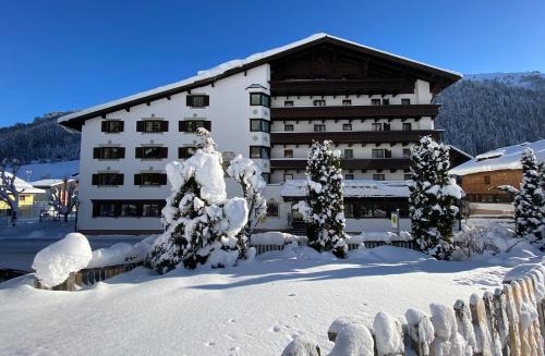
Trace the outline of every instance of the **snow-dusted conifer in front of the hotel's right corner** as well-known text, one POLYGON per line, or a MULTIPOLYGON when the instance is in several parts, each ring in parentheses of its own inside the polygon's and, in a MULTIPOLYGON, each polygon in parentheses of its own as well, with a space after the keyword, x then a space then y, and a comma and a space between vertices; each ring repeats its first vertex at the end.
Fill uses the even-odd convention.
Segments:
POLYGON ((411 149, 409 186, 412 232, 421 250, 437 259, 449 259, 453 250, 452 228, 461 188, 448 176, 448 148, 424 136, 411 149))

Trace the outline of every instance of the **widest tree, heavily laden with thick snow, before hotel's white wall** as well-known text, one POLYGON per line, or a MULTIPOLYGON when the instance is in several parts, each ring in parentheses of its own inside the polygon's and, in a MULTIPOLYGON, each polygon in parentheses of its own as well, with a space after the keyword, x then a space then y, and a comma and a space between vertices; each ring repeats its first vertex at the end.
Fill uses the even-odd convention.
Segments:
POLYGON ((148 256, 160 273, 181 263, 187 269, 233 266, 239 257, 235 236, 246 224, 246 200, 227 199, 221 155, 206 130, 197 136, 191 158, 167 164, 172 195, 162 210, 166 230, 148 256))

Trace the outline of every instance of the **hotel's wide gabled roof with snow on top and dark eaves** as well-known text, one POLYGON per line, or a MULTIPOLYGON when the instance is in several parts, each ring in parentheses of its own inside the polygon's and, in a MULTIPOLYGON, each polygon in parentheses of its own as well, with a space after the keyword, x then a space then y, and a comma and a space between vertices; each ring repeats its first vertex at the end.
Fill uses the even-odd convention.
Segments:
POLYGON ((288 56, 299 50, 327 42, 342 46, 352 50, 358 50, 371 56, 378 57, 384 60, 393 61, 417 71, 426 72, 429 74, 431 77, 440 77, 443 81, 445 81, 446 86, 455 83, 456 81, 462 77, 462 75, 457 72, 451 72, 415 60, 411 60, 404 57, 396 56, 389 52, 363 46, 328 34, 315 34, 282 47, 278 47, 261 53, 254 53, 242 60, 232 60, 222 63, 218 66, 215 66, 213 69, 206 71, 199 71, 197 75, 180 82, 168 84, 155 89, 142 91, 135 95, 131 95, 129 97, 109 101, 102 105, 98 105, 95 107, 90 107, 64 115, 60 118, 58 122, 65 127, 73 130, 81 130, 83 121, 87 119, 93 119, 110 112, 126 109, 132 106, 142 105, 154 100, 162 99, 166 97, 170 97, 171 95, 186 91, 192 88, 202 87, 211 84, 218 79, 221 79, 223 77, 265 64, 280 57, 288 56))

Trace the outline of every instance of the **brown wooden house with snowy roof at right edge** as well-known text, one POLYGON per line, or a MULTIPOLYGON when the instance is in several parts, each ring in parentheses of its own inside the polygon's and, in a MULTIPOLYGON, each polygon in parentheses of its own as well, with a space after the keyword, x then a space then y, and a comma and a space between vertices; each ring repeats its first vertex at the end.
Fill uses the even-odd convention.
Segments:
POLYGON ((477 155, 456 167, 450 174, 459 176, 470 209, 476 213, 513 211, 513 194, 497 189, 500 185, 520 187, 522 151, 532 148, 538 162, 545 161, 545 139, 498 148, 477 155))

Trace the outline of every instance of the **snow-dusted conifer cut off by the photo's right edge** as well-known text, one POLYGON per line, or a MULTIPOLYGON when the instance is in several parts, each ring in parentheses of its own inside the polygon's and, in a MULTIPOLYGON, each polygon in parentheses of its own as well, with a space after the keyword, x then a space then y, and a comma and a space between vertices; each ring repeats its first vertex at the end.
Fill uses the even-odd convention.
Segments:
POLYGON ((514 196, 514 224, 517 235, 530 237, 542 245, 545 233, 545 197, 543 172, 540 172, 534 151, 522 152, 522 183, 514 196), (532 236, 533 235, 533 236, 532 236))

